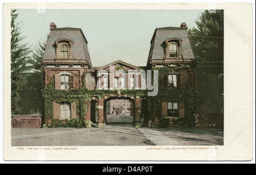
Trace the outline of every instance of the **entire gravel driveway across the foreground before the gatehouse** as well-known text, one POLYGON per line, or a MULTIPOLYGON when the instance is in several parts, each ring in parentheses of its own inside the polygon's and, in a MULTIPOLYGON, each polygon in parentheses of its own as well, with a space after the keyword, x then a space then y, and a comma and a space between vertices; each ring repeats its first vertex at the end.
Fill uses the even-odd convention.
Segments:
POLYGON ((130 124, 105 128, 12 128, 13 146, 93 146, 93 145, 223 145, 221 131, 183 131, 134 128, 130 124))

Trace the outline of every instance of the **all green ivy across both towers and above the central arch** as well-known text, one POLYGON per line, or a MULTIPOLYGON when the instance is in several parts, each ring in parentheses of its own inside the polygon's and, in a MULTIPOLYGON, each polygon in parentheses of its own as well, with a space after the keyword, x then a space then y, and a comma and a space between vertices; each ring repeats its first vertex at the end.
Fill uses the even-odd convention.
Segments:
MULTIPOLYGON (((180 88, 167 89, 167 75, 170 72, 179 72, 188 67, 178 66, 174 68, 152 68, 158 70, 159 90, 158 95, 147 97, 147 90, 87 90, 85 89, 85 76, 82 76, 82 88, 73 90, 55 90, 54 77, 49 80, 49 84, 42 89, 44 101, 43 116, 48 127, 86 127, 85 115, 87 104, 90 98, 104 98, 108 95, 127 95, 131 97, 147 97, 150 104, 149 119, 154 121, 158 119, 161 127, 168 126, 168 119, 162 118, 162 101, 185 102, 185 118, 180 119, 179 124, 187 127, 195 126, 195 95, 196 90, 193 87, 181 86, 180 88), (119 92, 119 93, 118 93, 119 92), (53 119, 53 102, 76 103, 77 119, 59 120, 53 119)), ((179 120, 179 119, 178 119, 179 120)))

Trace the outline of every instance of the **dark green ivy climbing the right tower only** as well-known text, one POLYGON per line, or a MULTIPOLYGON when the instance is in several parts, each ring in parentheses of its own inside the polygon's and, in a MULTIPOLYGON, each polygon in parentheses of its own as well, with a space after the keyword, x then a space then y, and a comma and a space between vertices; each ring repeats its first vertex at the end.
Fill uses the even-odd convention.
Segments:
POLYGON ((189 67, 177 66, 177 67, 165 67, 165 68, 152 68, 158 70, 158 95, 154 97, 148 97, 150 101, 151 113, 154 117, 159 120, 160 127, 167 127, 170 124, 169 119, 164 119, 162 117, 162 101, 174 101, 174 102, 184 102, 185 103, 185 118, 175 119, 177 125, 194 127, 195 126, 195 97, 196 90, 190 86, 181 86, 180 88, 168 87, 168 74, 171 72, 181 72, 182 70, 187 70, 189 67))

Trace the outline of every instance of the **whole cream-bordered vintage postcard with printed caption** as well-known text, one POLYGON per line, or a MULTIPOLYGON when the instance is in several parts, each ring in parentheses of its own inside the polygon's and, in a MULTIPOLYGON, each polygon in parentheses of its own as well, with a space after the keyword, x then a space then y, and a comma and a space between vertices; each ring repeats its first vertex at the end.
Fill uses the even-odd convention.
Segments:
POLYGON ((3 12, 4 160, 252 159, 252 4, 3 12))

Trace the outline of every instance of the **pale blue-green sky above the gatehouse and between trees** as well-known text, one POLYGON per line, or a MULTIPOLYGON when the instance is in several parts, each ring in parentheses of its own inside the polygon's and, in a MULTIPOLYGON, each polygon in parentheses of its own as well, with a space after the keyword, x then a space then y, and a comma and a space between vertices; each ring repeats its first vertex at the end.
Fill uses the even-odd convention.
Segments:
POLYGON ((196 27, 196 19, 204 10, 49 10, 18 9, 17 22, 28 47, 46 41, 49 24, 57 27, 81 28, 88 41, 93 66, 122 60, 146 66, 150 41, 155 28, 196 27))

